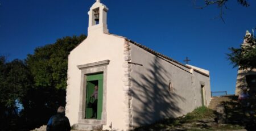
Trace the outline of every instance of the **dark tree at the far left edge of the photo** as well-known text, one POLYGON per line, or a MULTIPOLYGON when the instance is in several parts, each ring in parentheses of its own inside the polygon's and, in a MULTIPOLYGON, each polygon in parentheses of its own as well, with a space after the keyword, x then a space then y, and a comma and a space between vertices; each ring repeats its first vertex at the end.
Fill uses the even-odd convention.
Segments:
POLYGON ((0 56, 0 120, 1 129, 10 129, 20 117, 17 102, 21 102, 31 86, 30 73, 21 60, 6 62, 0 56))

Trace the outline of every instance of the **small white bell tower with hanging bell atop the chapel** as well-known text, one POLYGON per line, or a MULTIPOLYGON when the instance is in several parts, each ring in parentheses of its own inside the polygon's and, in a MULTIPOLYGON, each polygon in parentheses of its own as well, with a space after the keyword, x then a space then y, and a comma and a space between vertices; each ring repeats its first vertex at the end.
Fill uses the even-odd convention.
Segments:
POLYGON ((90 7, 89 15, 89 26, 88 26, 88 35, 91 33, 108 33, 107 21, 107 12, 108 8, 103 5, 100 0, 90 7))

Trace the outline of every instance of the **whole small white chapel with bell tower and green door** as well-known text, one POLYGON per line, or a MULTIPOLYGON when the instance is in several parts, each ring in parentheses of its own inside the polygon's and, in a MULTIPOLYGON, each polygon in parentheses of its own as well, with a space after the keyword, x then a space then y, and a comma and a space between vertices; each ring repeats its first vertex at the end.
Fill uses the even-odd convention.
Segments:
POLYGON ((68 57, 65 113, 74 129, 131 130, 209 104, 208 70, 109 33, 107 13, 100 0, 90 7, 88 37, 68 57))

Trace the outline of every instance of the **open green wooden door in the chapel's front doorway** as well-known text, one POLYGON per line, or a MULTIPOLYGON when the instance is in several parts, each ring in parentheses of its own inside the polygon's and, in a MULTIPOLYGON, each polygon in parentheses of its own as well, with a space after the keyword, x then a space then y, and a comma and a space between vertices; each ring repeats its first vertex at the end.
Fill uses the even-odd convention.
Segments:
MULTIPOLYGON (((90 96, 93 94, 94 86, 98 85, 98 103, 97 103, 97 119, 101 120, 102 102, 103 102, 103 73, 92 74, 86 76, 87 93, 86 105, 89 102, 90 96)), ((86 108, 86 119, 92 116, 92 108, 86 108)))

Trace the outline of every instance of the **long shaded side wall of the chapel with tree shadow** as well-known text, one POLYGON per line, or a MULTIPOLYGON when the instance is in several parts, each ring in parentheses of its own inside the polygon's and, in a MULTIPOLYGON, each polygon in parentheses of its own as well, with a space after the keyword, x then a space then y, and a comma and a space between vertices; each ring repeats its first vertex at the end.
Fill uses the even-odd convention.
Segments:
POLYGON ((201 88, 197 83, 200 79, 208 85, 208 77, 191 74, 134 44, 131 44, 131 62, 143 65, 132 65, 131 71, 133 126, 185 115, 201 105, 201 88), (169 82, 174 87, 173 93, 169 82))

